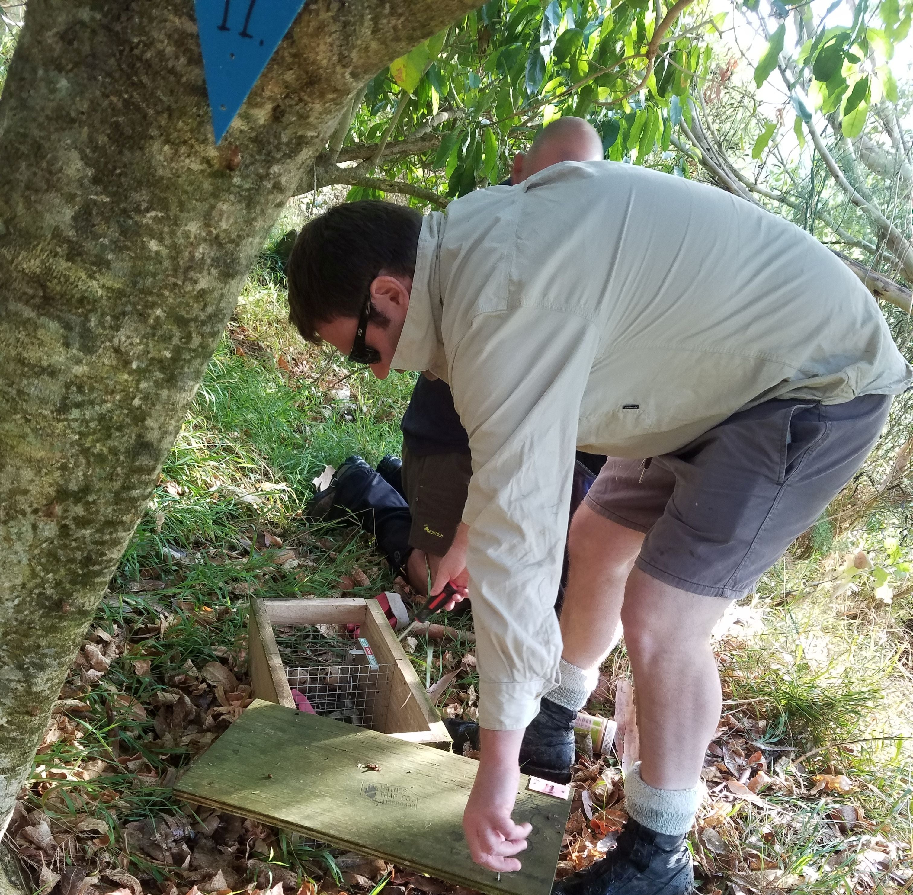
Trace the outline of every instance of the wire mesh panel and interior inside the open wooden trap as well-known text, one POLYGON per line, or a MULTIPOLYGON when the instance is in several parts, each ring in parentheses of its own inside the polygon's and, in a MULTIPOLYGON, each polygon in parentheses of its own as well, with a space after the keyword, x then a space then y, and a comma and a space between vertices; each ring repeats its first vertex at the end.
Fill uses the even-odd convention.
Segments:
POLYGON ((274 634, 299 708, 310 704, 324 718, 383 732, 392 667, 377 661, 364 638, 336 625, 275 627, 274 634))

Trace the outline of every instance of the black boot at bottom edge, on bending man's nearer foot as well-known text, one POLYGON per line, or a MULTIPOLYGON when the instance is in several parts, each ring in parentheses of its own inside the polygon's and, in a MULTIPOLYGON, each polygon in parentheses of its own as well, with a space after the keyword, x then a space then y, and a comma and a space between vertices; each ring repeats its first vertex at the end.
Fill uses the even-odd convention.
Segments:
POLYGON ((608 857, 555 883, 551 895, 685 895, 694 889, 686 836, 629 818, 608 857))

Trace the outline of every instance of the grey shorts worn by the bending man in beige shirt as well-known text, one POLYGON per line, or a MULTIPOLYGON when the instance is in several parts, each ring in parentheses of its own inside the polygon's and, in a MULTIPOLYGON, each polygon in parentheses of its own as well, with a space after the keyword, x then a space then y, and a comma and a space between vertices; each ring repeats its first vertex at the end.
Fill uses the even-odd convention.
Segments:
POLYGON ((608 458, 585 502, 645 532, 641 571, 739 599, 862 466, 890 405, 889 395, 765 401, 670 454, 608 458))

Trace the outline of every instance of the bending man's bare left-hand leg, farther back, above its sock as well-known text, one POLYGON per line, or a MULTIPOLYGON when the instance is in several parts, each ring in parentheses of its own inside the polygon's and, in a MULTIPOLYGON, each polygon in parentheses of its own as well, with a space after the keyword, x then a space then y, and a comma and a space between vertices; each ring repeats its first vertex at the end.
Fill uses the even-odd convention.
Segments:
POLYGON ((643 541, 641 532, 606 519, 585 503, 574 513, 561 607, 566 662, 598 669, 618 643, 624 586, 643 541))

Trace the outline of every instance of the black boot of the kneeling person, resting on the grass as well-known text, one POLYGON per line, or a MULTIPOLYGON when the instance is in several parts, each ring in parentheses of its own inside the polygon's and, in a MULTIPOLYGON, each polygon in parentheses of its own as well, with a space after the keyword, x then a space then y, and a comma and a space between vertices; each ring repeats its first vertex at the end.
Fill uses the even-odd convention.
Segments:
POLYGON ((354 519, 377 539, 377 546, 394 573, 412 549, 412 514, 403 498, 361 457, 345 460, 330 483, 310 500, 305 515, 320 521, 354 519))

